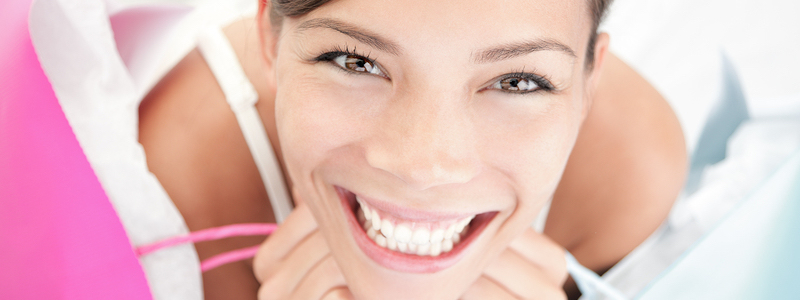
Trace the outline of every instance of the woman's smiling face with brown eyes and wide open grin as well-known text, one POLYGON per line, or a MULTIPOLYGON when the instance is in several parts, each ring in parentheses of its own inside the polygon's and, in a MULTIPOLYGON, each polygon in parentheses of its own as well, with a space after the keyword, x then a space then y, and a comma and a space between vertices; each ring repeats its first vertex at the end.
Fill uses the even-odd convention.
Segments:
POLYGON ((284 21, 283 155, 356 296, 456 298, 530 226, 589 104, 590 23, 585 0, 340 0, 284 21))

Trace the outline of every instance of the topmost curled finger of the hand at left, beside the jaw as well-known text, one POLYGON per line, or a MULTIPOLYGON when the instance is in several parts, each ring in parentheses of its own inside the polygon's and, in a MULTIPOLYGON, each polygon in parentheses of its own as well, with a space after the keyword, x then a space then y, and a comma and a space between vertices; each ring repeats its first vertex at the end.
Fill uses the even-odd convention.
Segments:
POLYGON ((317 223, 306 205, 297 206, 286 221, 261 244, 253 259, 253 270, 258 282, 278 267, 278 262, 314 232, 317 223))

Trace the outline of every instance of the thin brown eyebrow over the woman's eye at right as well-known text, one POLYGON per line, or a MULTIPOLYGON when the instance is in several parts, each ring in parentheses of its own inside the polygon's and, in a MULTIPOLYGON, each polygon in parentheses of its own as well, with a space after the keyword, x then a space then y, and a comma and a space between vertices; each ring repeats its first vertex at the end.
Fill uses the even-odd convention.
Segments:
POLYGON ((478 52, 473 56, 473 61, 479 64, 497 62, 518 56, 523 56, 538 51, 558 51, 569 56, 577 57, 572 48, 551 39, 535 39, 522 43, 506 44, 499 47, 478 52))

